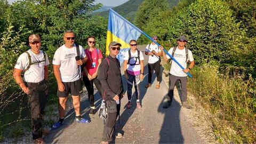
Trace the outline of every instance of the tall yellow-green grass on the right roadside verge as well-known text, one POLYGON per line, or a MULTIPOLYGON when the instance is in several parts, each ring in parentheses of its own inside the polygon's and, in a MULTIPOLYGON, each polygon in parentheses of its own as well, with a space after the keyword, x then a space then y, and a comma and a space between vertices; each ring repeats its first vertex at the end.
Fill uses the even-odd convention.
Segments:
POLYGON ((256 141, 256 79, 225 76, 217 65, 196 66, 190 71, 188 91, 211 112, 219 142, 256 141))

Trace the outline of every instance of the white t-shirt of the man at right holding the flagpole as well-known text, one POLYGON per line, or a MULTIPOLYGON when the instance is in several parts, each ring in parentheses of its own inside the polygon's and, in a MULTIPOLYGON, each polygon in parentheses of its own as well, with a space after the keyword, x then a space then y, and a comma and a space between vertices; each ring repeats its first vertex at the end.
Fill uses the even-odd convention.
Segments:
MULTIPOLYGON (((170 54, 172 54, 172 51, 173 51, 173 47, 168 52, 170 54)), ((166 55, 166 57, 167 57, 167 59, 170 59, 170 57, 168 55, 166 55)), ((180 50, 177 47, 173 57, 174 57, 175 60, 177 60, 180 63, 180 65, 183 68, 187 68, 186 50, 185 49, 180 50)), ((192 54, 192 52, 190 50, 188 50, 188 60, 189 61, 194 61, 193 54, 192 54)), ((187 76, 187 74, 184 73, 184 71, 180 68, 180 66, 176 62, 174 62, 174 61, 172 61, 172 65, 171 65, 171 68, 170 68, 170 74, 174 75, 174 76, 180 76, 180 77, 187 76)))

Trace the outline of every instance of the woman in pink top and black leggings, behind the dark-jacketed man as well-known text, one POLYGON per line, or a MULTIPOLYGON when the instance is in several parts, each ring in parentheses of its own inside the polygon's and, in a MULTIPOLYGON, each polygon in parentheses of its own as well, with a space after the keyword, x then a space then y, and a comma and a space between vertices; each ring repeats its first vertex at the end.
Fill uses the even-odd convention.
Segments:
POLYGON ((94 106, 94 91, 93 91, 93 83, 97 87, 100 94, 102 94, 102 87, 97 79, 98 68, 102 61, 102 53, 99 49, 95 47, 95 37, 89 36, 87 37, 88 47, 85 49, 85 53, 87 55, 87 62, 83 71, 83 82, 88 92, 88 98, 90 101, 90 115, 94 115, 95 106, 94 106))

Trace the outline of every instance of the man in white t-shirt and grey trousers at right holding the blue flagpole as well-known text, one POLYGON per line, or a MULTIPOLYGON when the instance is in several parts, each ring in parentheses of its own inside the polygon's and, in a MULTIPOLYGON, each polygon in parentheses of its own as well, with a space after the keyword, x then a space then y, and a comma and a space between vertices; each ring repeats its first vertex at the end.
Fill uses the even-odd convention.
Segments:
MULTIPOLYGON (((187 42, 188 41, 185 36, 180 36, 177 39, 178 46, 172 47, 168 51, 168 53, 172 54, 172 57, 174 57, 174 59, 177 60, 180 63, 180 65, 185 69, 182 70, 176 62, 174 61, 171 62, 170 76, 169 76, 169 91, 168 91, 170 100, 165 103, 163 108, 168 108, 171 106, 171 102, 173 99, 173 89, 176 81, 180 81, 180 84, 181 84, 182 107, 192 108, 187 102, 188 79, 187 79, 186 73, 188 73, 188 71, 194 67, 195 61, 194 61, 192 52, 188 50, 187 47, 185 47, 187 42), (188 67, 187 67, 187 62, 190 62, 188 67)), ((160 49, 163 51, 162 46, 160 47, 160 49)), ((170 57, 168 55, 165 55, 164 52, 163 52, 163 58, 166 61, 170 59, 170 57)))

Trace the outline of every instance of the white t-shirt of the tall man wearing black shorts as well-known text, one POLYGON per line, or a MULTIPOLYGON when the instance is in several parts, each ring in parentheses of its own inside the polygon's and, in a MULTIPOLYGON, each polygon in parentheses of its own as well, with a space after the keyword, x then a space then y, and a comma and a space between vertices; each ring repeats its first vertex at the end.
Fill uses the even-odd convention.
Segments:
MULTIPOLYGON (((85 51, 79 45, 81 59, 86 57, 85 51)), ((75 82, 81 77, 81 68, 76 64, 76 45, 68 48, 62 45, 54 53, 53 65, 60 65, 60 78, 62 82, 75 82)))

